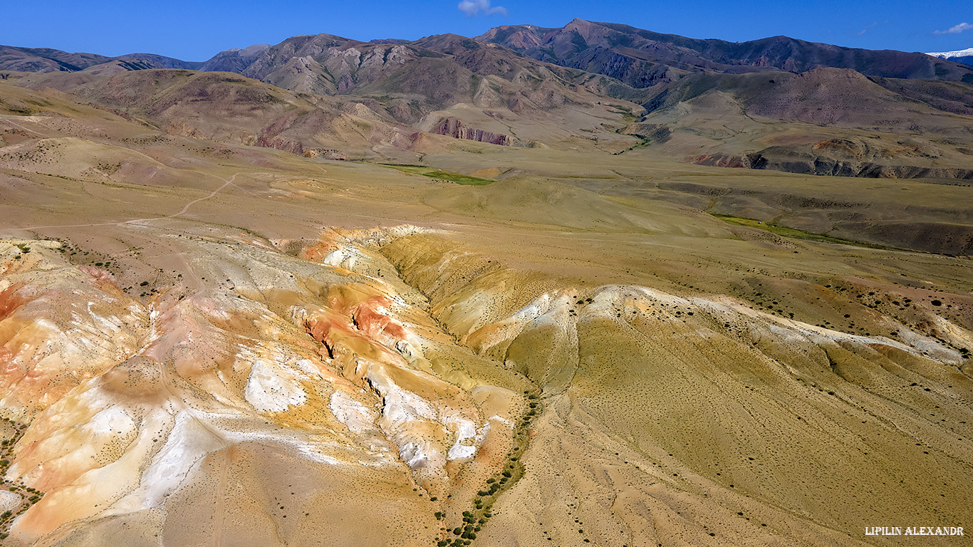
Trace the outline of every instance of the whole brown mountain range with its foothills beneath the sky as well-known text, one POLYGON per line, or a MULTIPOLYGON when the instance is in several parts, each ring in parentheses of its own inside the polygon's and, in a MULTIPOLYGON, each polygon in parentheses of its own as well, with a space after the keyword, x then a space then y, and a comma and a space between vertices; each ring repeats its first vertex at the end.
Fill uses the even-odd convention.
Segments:
POLYGON ((937 55, 574 19, 473 38, 302 35, 202 62, 0 47, 0 77, 169 131, 297 154, 423 153, 422 135, 438 133, 822 175, 973 178, 973 66, 937 55))

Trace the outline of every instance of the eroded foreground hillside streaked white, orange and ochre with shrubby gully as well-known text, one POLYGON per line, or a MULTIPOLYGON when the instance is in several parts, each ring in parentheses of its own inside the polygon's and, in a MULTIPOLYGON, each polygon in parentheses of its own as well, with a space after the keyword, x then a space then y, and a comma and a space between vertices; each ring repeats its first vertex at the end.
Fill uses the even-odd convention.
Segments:
POLYGON ((3 405, 29 423, 6 479, 44 492, 14 544, 856 544, 969 518, 969 297, 761 278, 793 318, 410 227, 298 257, 143 230, 196 287, 131 298, 4 243, 3 405))

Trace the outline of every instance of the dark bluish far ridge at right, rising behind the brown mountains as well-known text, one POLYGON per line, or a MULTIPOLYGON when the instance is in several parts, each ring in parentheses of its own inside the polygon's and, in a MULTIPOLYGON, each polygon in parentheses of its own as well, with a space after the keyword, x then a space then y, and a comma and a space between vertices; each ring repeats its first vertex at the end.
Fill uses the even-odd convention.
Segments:
POLYGON ((924 54, 842 48, 775 36, 751 42, 698 40, 626 24, 574 19, 563 28, 498 26, 477 40, 537 59, 617 78, 632 87, 666 83, 696 72, 805 72, 849 68, 867 76, 973 83, 973 68, 924 54))

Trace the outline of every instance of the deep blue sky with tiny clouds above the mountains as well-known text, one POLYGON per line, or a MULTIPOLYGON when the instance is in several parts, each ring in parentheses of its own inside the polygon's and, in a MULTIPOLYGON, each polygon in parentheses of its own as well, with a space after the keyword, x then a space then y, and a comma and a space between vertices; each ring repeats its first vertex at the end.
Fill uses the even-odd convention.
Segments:
POLYGON ((841 46, 941 52, 973 48, 973 0, 8 0, 0 44, 101 55, 204 60, 296 34, 358 40, 475 36, 501 24, 622 22, 693 38, 779 34, 841 46), (492 1, 492 3, 491 3, 492 1))

